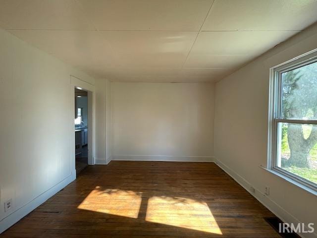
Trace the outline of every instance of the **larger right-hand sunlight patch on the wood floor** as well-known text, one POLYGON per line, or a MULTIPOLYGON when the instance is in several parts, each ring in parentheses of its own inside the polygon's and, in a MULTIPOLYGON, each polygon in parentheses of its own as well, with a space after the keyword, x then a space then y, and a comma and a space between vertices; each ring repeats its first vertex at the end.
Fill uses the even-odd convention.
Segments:
POLYGON ((151 197, 146 221, 222 235, 207 203, 189 198, 151 197))

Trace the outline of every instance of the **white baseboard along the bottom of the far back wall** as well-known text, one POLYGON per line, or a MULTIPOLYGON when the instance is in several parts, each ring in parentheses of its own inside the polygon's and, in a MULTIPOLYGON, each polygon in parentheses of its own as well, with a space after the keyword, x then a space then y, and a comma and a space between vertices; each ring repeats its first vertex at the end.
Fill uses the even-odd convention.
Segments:
POLYGON ((213 162, 211 156, 168 156, 168 155, 112 155, 114 161, 175 161, 175 162, 213 162))

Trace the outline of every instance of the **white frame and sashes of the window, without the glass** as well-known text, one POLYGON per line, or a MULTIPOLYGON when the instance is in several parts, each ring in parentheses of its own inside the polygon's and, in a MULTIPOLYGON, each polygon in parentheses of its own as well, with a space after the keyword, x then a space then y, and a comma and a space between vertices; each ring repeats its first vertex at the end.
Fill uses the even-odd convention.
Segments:
POLYGON ((268 130, 268 160, 267 169, 273 173, 286 176, 300 184, 317 191, 317 184, 290 173, 277 166, 277 158, 280 149, 278 138, 281 131, 278 131, 279 122, 298 123, 298 124, 317 124, 317 120, 302 119, 282 119, 281 96, 282 96, 282 73, 303 67, 307 64, 317 62, 317 49, 286 61, 282 64, 270 68, 270 86, 269 86, 269 130, 268 130))

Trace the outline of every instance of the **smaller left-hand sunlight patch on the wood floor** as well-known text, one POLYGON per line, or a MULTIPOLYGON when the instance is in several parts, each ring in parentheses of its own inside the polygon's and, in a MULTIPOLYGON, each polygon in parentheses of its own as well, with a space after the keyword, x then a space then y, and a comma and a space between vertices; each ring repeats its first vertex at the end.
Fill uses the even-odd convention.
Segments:
POLYGON ((138 218, 142 193, 97 186, 78 206, 79 209, 116 216, 138 218))

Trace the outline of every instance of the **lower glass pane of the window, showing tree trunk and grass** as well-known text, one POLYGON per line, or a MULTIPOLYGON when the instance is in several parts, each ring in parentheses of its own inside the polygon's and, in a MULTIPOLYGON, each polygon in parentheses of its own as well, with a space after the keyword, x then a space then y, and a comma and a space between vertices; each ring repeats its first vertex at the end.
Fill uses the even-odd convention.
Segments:
POLYGON ((278 123, 277 167, 317 183, 317 125, 278 123))

